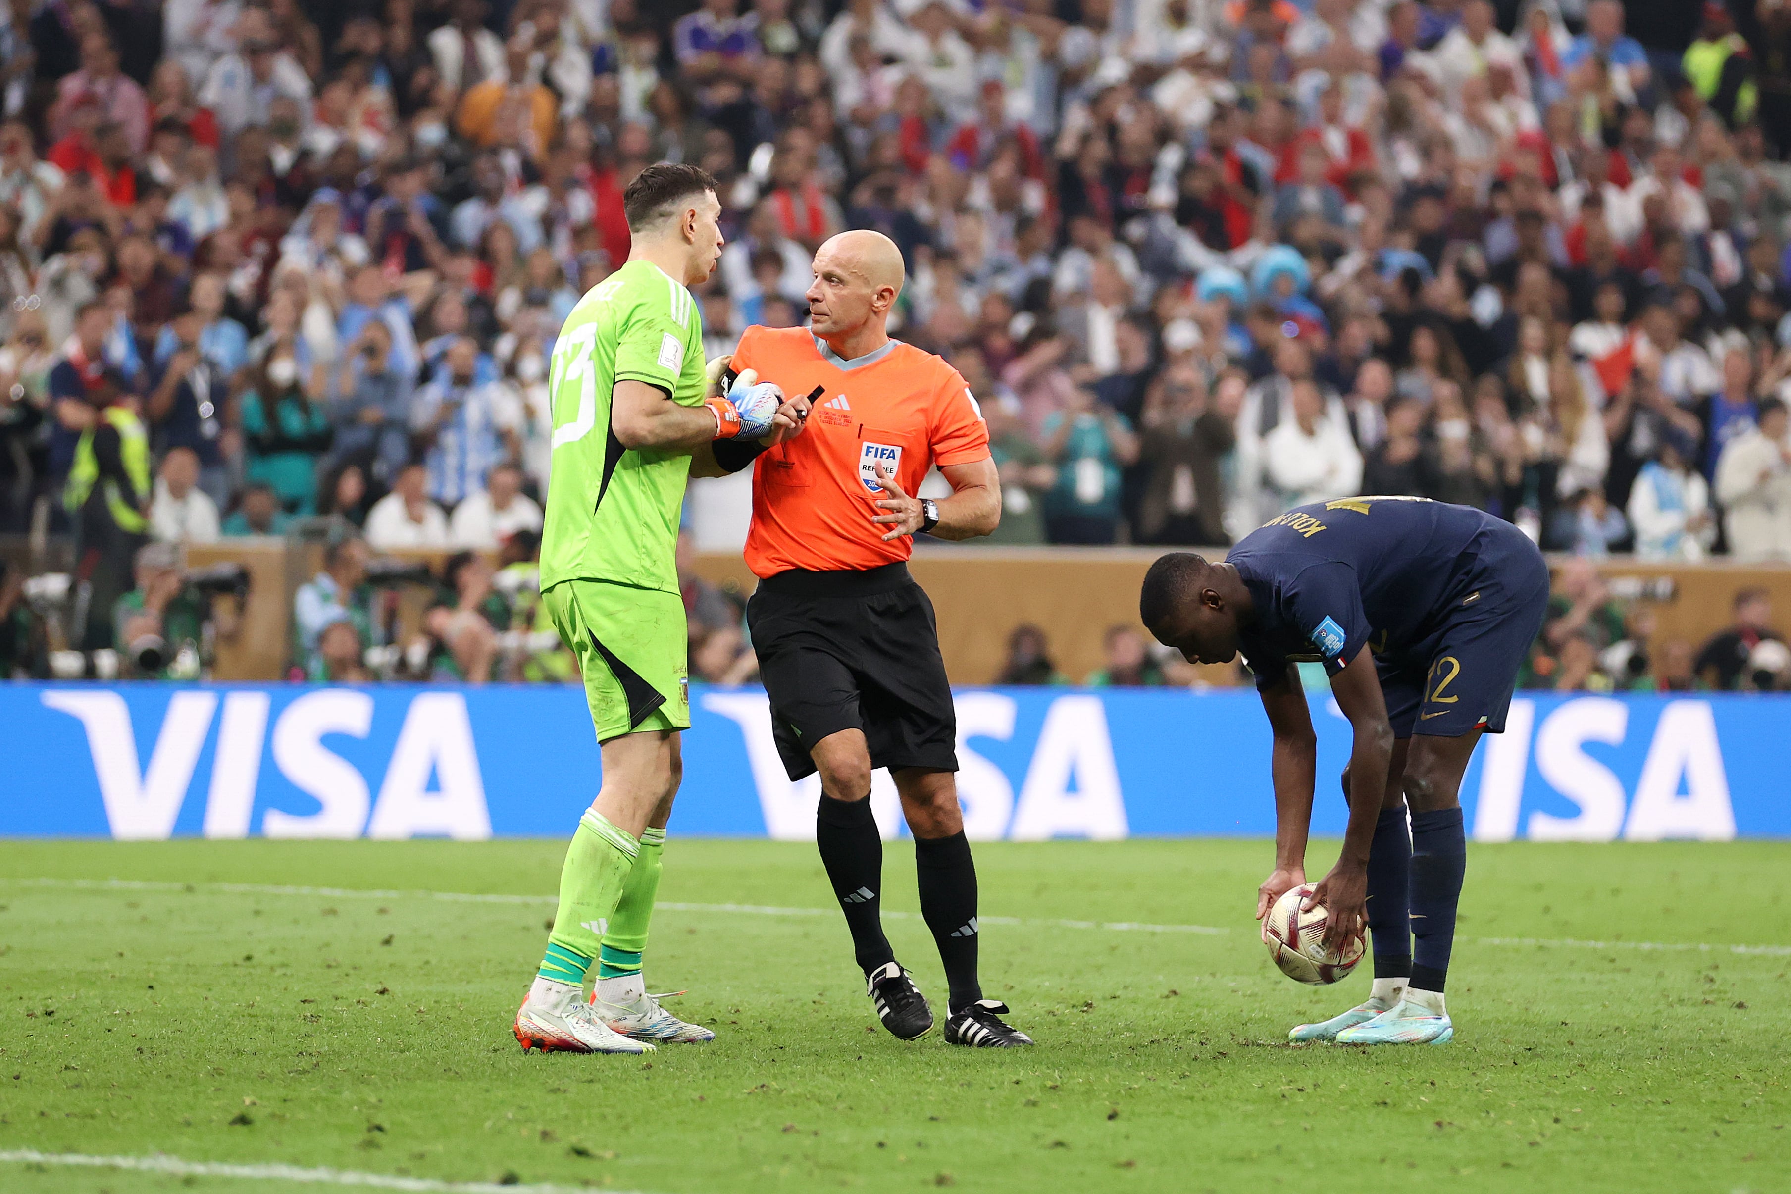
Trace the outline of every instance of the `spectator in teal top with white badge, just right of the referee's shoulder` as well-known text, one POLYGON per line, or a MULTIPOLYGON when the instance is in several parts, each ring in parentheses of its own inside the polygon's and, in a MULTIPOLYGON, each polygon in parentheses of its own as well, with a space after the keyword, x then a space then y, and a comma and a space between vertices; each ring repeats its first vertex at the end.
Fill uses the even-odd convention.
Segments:
POLYGON ((1044 499, 1051 542, 1100 544, 1119 537, 1119 469, 1137 460, 1137 437, 1125 417, 1075 387, 1062 412, 1044 419, 1044 458, 1057 485, 1044 499))

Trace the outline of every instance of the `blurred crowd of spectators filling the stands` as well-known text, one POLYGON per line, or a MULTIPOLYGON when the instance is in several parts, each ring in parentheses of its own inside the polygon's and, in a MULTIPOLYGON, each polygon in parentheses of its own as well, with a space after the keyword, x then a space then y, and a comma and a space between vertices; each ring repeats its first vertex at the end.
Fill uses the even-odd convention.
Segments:
MULTIPOLYGON (((84 644, 147 539, 335 516, 527 564, 553 335, 659 159, 722 181, 711 354, 802 320, 831 233, 901 245, 996 542, 1415 494, 1589 559, 1791 559, 1786 0, 682 7, 11 0, 0 533, 77 537, 84 644)), ((433 641, 489 675, 505 589, 457 560, 433 641)), ((360 668, 330 575, 319 677, 360 668)), ((743 675, 738 618, 691 621, 743 675)))

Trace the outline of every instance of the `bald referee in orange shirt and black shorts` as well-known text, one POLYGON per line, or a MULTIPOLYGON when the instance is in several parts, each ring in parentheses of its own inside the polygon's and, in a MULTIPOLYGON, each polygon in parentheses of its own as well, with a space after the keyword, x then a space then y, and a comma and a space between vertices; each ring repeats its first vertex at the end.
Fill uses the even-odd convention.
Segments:
POLYGON ((747 625, 790 779, 820 772, 815 841, 883 1026, 903 1040, 933 1011, 883 936, 883 840, 870 770, 888 768, 913 831, 921 915, 946 967, 946 1042, 1030 1045, 976 977, 976 863, 958 807, 956 714, 933 603, 908 575, 912 535, 987 535, 1001 519, 989 431, 958 371, 892 340, 901 251, 870 231, 815 254, 811 328, 749 328, 729 362, 810 396, 808 433, 754 462, 747 625), (917 499, 931 465, 951 483, 917 499))

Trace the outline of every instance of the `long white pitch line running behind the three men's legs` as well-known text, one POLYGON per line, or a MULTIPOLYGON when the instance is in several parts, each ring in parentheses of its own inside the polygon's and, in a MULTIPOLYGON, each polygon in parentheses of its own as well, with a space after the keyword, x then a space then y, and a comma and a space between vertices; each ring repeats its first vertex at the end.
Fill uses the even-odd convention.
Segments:
MULTIPOLYGON (((145 879, 0 879, 0 884, 36 888, 77 888, 116 891, 222 891, 227 895, 326 895, 331 899, 424 899, 460 904, 557 904, 555 895, 487 895, 480 891, 383 891, 369 888, 301 888, 260 883, 163 883, 145 879)), ((724 913, 749 917, 835 917, 831 908, 777 908, 772 904, 681 904, 661 900, 657 908, 682 913, 724 913)), ((919 920, 919 913, 885 911, 894 920, 919 920)), ((1103 933, 1193 933, 1223 936, 1230 929, 1207 924, 1144 924, 1139 920, 1051 920, 1042 917, 978 917, 980 924, 1017 925, 1030 929, 1096 929, 1103 933)), ((1469 936, 1474 945, 1519 945, 1538 949, 1635 949, 1653 952, 1741 954, 1762 958, 1791 958, 1791 945, 1712 945, 1709 942, 1581 942, 1547 936, 1469 936)))

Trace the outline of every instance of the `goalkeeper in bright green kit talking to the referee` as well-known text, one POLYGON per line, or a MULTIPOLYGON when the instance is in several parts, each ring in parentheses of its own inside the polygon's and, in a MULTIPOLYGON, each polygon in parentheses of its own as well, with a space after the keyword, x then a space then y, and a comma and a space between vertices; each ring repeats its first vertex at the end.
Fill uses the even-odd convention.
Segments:
POLYGON ((715 1038, 659 1008, 641 979, 682 770, 679 730, 690 727, 679 508, 691 474, 743 469, 808 417, 808 403, 786 401, 776 385, 743 374, 720 394, 722 369, 706 371, 688 286, 722 256, 715 179, 648 166, 623 193, 623 211, 629 261, 566 317, 548 380, 541 600, 578 657, 604 782, 566 850, 553 933, 516 1013, 525 1053, 645 1053, 715 1038))

